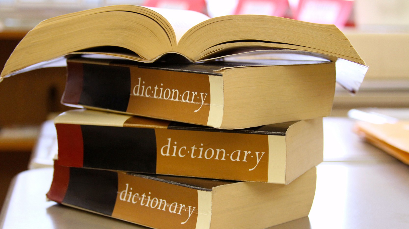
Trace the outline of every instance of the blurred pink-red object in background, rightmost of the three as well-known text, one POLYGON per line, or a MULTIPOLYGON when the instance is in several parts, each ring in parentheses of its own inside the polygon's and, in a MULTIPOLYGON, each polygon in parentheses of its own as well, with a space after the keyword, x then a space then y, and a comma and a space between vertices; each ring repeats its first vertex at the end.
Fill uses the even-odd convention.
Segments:
POLYGON ((335 24, 342 28, 351 15, 350 0, 300 0, 294 19, 321 24, 335 24))

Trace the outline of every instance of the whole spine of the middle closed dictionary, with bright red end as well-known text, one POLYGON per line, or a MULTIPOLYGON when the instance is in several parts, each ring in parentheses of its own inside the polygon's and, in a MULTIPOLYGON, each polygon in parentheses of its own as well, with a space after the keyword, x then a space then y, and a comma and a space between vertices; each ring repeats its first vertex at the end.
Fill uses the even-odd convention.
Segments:
POLYGON ((281 135, 65 123, 56 129, 64 166, 285 182, 281 135))

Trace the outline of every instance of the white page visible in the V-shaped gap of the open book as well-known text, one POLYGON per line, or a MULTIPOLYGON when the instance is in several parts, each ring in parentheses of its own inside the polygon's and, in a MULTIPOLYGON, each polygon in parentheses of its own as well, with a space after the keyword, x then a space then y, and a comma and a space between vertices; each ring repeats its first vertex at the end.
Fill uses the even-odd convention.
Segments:
POLYGON ((191 10, 178 10, 178 9, 163 9, 155 7, 146 7, 157 13, 160 13, 173 27, 176 35, 176 42, 179 42, 183 34, 186 33, 191 27, 210 19, 203 13, 199 13, 191 10))

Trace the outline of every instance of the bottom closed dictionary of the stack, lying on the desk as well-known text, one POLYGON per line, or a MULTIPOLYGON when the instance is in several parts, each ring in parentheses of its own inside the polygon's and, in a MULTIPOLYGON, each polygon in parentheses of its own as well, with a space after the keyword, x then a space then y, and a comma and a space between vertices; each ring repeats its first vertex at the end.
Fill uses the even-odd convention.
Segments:
POLYGON ((157 229, 264 229, 308 215, 316 168, 289 185, 55 165, 47 198, 157 229))

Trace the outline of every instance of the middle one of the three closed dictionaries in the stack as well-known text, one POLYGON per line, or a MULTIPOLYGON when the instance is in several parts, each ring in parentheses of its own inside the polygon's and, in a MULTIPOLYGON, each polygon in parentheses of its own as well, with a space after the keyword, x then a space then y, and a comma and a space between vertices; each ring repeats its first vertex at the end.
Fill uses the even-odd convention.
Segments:
POLYGON ((288 184, 323 160, 322 118, 220 130, 72 110, 54 122, 70 167, 288 184))

